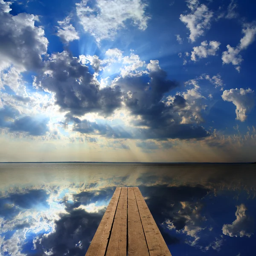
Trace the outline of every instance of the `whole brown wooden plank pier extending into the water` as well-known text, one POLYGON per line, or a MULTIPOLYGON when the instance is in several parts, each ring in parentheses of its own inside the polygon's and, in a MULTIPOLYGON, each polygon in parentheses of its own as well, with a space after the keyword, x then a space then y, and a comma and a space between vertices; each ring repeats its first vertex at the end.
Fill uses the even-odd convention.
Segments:
POLYGON ((117 187, 86 256, 171 256, 138 187, 117 187))

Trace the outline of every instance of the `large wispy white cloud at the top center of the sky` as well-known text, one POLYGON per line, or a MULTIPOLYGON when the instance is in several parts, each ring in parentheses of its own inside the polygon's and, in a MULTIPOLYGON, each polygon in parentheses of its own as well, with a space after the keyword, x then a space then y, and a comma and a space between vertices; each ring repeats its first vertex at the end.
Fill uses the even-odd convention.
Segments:
POLYGON ((76 14, 84 31, 93 35, 98 43, 112 39, 119 29, 125 28, 128 20, 140 30, 147 28, 147 5, 141 0, 96 0, 93 7, 87 3, 87 0, 76 3, 76 14))

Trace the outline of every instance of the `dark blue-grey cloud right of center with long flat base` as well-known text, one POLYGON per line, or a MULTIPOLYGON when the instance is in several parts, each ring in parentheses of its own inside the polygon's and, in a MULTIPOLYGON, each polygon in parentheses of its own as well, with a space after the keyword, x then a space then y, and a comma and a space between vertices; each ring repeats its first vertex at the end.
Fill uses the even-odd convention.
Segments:
POLYGON ((163 99, 166 93, 176 88, 178 83, 167 79, 163 70, 151 72, 147 77, 120 78, 116 84, 126 92, 125 105, 131 114, 140 116, 134 120, 135 126, 146 126, 137 129, 134 138, 160 139, 168 138, 191 139, 209 136, 201 126, 181 124, 182 116, 177 115, 176 108, 183 108, 186 100, 175 96, 173 104, 167 105, 163 99))

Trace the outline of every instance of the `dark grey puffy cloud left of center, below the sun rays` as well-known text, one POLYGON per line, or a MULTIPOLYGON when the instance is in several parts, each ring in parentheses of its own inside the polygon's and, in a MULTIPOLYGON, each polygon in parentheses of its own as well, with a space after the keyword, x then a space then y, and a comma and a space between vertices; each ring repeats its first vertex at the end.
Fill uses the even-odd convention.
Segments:
POLYGON ((52 54, 45 61, 44 70, 36 79, 36 84, 55 93, 56 104, 70 116, 82 116, 97 112, 108 116, 121 106, 121 90, 118 86, 100 89, 99 82, 82 65, 78 58, 68 52, 52 54))

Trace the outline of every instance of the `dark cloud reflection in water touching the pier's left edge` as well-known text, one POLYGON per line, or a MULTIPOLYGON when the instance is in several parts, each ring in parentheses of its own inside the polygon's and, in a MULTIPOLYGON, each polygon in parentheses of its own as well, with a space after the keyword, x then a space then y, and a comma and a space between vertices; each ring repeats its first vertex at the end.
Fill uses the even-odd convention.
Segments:
MULTIPOLYGON (((87 213, 82 209, 74 209, 62 215, 55 222, 55 232, 41 236, 41 241, 36 242, 35 253, 44 256, 44 251, 48 249, 52 250, 52 256, 84 256, 103 214, 104 211, 87 213)), ((35 254, 29 256, 32 255, 35 254)))

